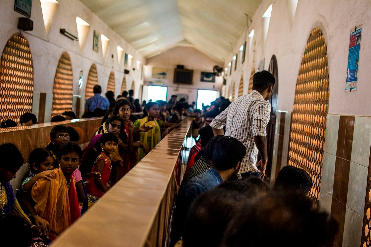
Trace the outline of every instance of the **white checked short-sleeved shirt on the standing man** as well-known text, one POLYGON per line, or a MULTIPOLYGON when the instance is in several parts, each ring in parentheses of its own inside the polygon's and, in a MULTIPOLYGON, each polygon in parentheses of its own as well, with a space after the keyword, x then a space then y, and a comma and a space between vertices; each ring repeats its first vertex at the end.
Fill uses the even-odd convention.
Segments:
POLYGON ((210 126, 222 129, 226 126, 226 136, 238 139, 246 147, 246 155, 241 162, 239 174, 259 172, 256 167, 258 150, 254 136, 266 136, 270 118, 270 103, 256 90, 237 98, 221 112, 210 126))

